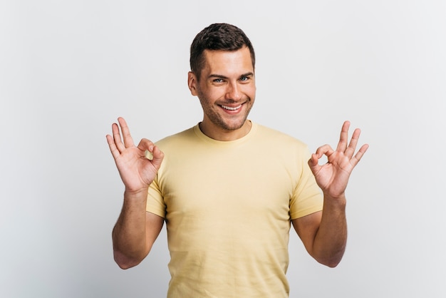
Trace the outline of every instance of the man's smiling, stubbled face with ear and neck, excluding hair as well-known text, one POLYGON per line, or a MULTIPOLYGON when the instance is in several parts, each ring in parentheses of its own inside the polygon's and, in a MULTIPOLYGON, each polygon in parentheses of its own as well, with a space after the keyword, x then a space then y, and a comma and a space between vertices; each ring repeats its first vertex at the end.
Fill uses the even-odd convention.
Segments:
POLYGON ((198 96, 204 112, 200 128, 217 140, 241 138, 249 132, 247 117, 256 95, 249 48, 206 50, 204 58, 199 81, 194 73, 188 78, 190 91, 198 96))

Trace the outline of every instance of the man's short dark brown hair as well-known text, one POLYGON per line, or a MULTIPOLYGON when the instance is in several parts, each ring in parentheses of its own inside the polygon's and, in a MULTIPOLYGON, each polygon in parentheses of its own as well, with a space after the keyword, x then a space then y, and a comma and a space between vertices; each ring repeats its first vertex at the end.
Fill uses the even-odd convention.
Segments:
POLYGON ((199 80, 204 68, 204 50, 237 51, 247 46, 251 53, 252 67, 256 63, 254 47, 242 29, 225 23, 211 24, 195 36, 190 46, 190 69, 199 80))

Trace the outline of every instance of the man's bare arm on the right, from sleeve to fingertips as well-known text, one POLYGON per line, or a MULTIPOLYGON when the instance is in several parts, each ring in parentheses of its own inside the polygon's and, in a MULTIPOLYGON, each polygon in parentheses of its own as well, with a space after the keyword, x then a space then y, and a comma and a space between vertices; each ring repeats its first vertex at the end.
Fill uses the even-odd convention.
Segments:
POLYGON ((336 150, 323 145, 311 155, 308 165, 323 191, 323 211, 293 220, 308 253, 321 264, 336 267, 343 257, 347 242, 346 187, 353 168, 361 160, 368 145, 363 145, 353 156, 361 130, 353 132, 348 144, 348 121, 343 123, 336 150), (328 163, 318 165, 323 155, 328 163))

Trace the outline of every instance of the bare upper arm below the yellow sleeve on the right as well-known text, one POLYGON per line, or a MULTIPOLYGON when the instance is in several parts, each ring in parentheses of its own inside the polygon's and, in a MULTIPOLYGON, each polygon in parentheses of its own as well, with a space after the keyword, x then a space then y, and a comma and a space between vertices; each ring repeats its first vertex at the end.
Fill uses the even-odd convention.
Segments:
POLYGON ((314 212, 304 217, 296 218, 291 220, 293 223, 294 230, 296 230, 297 235, 301 238, 302 242, 308 253, 310 255, 313 251, 313 244, 316 234, 321 225, 322 211, 314 212))

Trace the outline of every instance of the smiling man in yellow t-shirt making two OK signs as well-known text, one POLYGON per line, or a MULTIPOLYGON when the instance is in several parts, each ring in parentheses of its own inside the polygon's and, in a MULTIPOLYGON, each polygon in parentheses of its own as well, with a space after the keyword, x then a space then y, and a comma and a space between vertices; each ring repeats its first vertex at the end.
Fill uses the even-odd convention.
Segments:
POLYGON ((124 269, 139 264, 166 222, 168 297, 288 297, 291 224, 318 262, 341 261, 345 190, 368 145, 355 154, 360 130, 348 143, 346 121, 336 150, 323 145, 310 155, 299 140, 247 120, 255 56, 235 26, 197 34, 190 64, 202 122, 156 145, 135 146, 123 118, 107 135, 125 185, 115 261, 124 269), (323 155, 328 163, 318 165, 323 155))

